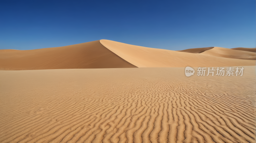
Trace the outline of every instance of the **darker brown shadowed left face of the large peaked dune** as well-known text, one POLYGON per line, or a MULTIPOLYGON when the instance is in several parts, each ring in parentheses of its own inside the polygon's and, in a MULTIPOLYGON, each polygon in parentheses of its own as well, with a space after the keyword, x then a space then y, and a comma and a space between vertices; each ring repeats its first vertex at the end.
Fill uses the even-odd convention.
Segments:
POLYGON ((35 50, 0 50, 1 70, 135 68, 100 41, 35 50))

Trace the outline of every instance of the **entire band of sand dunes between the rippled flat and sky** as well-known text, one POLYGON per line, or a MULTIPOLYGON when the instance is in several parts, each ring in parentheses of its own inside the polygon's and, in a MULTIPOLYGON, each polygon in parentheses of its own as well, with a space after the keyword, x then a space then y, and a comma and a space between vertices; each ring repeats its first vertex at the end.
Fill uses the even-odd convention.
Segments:
POLYGON ((216 47, 196 48, 187 50, 194 53, 187 53, 103 39, 54 48, 0 50, 0 70, 255 65, 252 60, 256 59, 252 52, 233 50, 233 53, 229 53, 227 50, 219 50, 223 53, 216 54, 216 50, 216 47))

